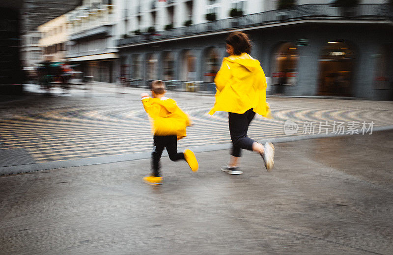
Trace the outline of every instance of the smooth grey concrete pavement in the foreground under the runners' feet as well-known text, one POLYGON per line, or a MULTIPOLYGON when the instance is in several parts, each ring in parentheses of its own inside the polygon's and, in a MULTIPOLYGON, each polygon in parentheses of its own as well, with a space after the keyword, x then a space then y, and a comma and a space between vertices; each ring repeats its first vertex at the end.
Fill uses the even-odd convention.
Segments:
POLYGON ((244 174, 149 159, 0 177, 0 254, 391 254, 393 131, 276 144, 244 174))

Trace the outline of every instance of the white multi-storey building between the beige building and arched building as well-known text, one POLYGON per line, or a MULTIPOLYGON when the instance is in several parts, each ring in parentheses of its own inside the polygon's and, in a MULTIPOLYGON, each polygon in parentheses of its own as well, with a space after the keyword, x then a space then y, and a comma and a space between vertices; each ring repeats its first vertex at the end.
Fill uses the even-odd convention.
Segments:
POLYGON ((117 60, 115 1, 83 0, 68 12, 66 59, 74 69, 82 71, 86 80, 114 82, 117 60))

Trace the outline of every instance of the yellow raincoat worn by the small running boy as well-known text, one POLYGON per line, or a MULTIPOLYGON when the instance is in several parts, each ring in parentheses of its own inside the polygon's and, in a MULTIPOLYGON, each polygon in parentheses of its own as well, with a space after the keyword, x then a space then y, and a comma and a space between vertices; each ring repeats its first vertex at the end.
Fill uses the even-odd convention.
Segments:
POLYGON ((143 97, 145 111, 152 121, 152 131, 155 135, 176 135, 177 140, 185 137, 186 127, 190 125, 188 115, 183 112, 176 101, 168 97, 143 97))

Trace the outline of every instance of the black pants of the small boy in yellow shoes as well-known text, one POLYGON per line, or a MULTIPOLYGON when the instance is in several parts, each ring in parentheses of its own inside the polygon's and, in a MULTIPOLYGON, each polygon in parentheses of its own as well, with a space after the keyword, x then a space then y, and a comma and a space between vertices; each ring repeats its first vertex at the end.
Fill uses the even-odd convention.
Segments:
POLYGON ((154 135, 153 151, 151 153, 151 164, 153 168, 153 176, 160 176, 160 159, 164 148, 167 147, 169 159, 177 161, 184 159, 183 153, 177 153, 177 137, 176 135, 154 135))

